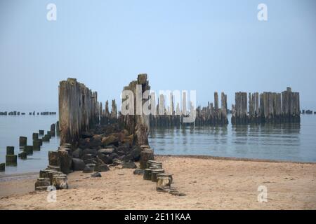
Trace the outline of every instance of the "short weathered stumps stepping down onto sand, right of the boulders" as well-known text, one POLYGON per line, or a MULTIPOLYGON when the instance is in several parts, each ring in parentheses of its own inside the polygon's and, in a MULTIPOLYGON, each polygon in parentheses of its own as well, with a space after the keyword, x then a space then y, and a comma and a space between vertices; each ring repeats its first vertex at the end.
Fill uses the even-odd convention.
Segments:
POLYGON ((162 162, 154 160, 154 150, 148 145, 140 146, 140 169, 143 169, 143 179, 156 183, 156 190, 159 192, 170 193, 171 195, 183 196, 176 188, 171 187, 173 182, 172 174, 168 174, 162 167, 162 162))

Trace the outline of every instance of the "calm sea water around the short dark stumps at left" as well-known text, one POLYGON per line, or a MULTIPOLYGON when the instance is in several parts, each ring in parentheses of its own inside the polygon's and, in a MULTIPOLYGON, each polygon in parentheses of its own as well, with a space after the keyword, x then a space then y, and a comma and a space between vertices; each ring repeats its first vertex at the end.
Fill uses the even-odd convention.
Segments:
MULTIPOLYGON (((27 137, 27 145, 32 145, 33 132, 51 129, 51 124, 56 123, 58 116, 0 116, 0 162, 6 162, 6 146, 14 146, 14 153, 20 153, 19 137, 27 137)), ((59 137, 52 137, 49 143, 43 142, 41 151, 34 151, 28 155, 27 160, 18 158, 17 167, 6 167, 6 172, 1 174, 20 174, 38 172, 48 165, 48 151, 56 151, 59 146, 59 137)))

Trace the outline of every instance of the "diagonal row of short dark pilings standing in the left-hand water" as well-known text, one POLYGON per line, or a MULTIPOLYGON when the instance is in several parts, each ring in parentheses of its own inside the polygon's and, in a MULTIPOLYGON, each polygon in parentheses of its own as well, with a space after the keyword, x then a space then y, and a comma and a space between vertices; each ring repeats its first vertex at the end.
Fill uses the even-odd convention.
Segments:
POLYGON ((14 146, 6 147, 6 163, 0 163, 0 172, 4 172, 6 166, 17 166, 18 157, 20 160, 27 160, 27 157, 32 156, 34 151, 40 151, 43 142, 49 142, 52 137, 59 136, 59 122, 53 123, 51 129, 45 134, 44 130, 34 132, 32 134, 32 144, 27 144, 27 137, 19 138, 20 153, 18 155, 14 152, 14 146), (39 138, 41 137, 41 138, 39 138))

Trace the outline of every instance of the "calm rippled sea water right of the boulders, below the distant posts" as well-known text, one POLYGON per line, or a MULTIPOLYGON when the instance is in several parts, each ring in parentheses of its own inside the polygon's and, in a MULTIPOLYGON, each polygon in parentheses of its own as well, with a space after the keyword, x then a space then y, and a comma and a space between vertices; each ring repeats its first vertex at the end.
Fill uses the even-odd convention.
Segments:
POLYGON ((155 153, 162 155, 316 162, 316 116, 301 116, 301 125, 155 129, 150 132, 150 146, 155 153))

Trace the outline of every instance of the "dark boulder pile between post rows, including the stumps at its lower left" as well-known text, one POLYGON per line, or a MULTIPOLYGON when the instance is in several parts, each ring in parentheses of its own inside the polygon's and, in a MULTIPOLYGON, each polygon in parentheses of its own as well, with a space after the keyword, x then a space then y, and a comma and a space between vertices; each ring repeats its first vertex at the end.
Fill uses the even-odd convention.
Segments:
POLYGON ((140 160, 141 151, 140 146, 133 146, 133 135, 118 125, 97 126, 81 134, 78 148, 62 144, 58 151, 48 152, 49 165, 41 170, 35 189, 44 190, 50 185, 56 189, 68 188, 67 174, 73 171, 96 172, 91 177, 99 177, 98 172, 107 172, 111 166, 136 169, 134 162, 140 160))

